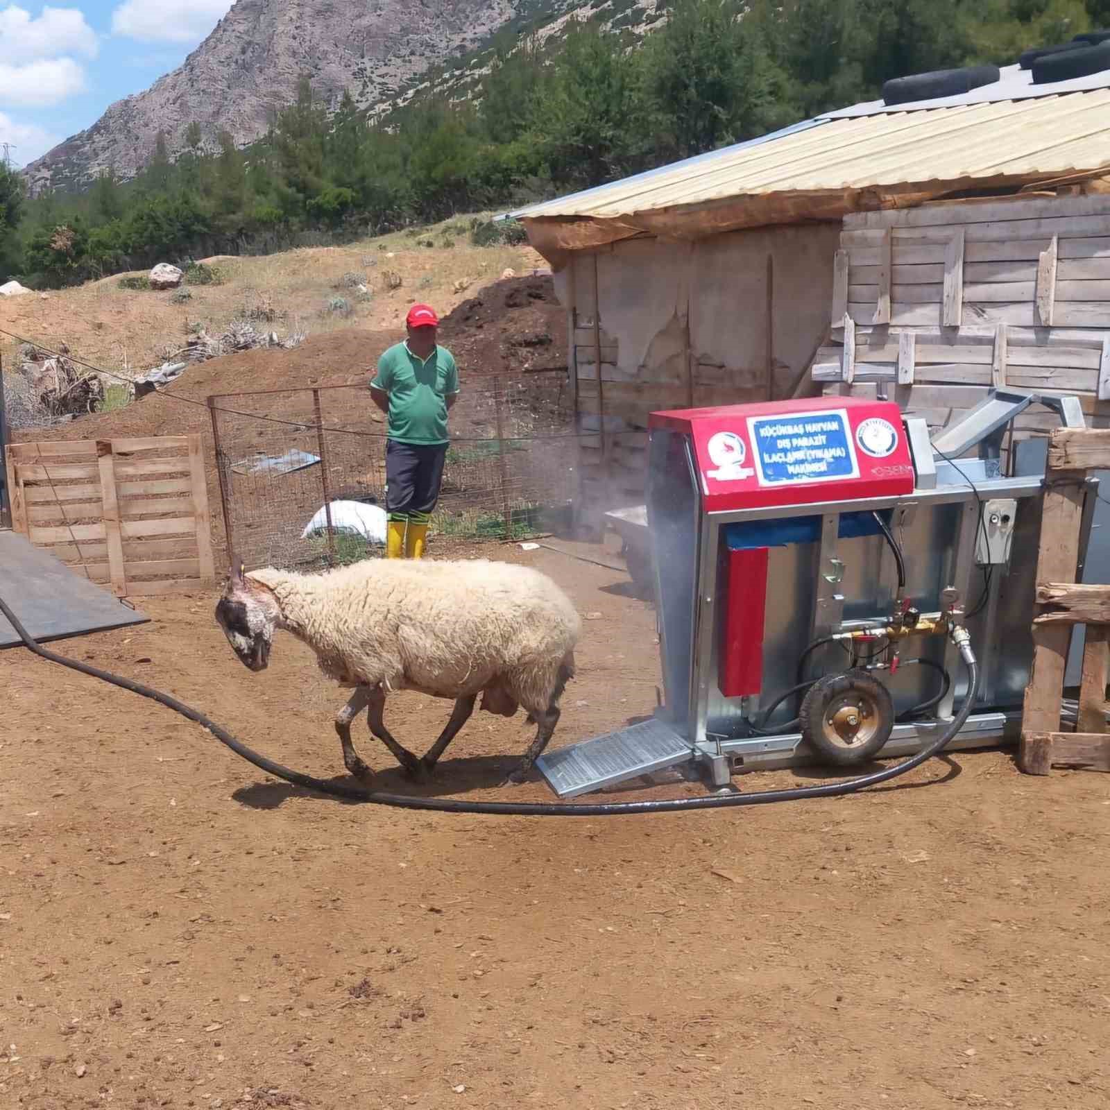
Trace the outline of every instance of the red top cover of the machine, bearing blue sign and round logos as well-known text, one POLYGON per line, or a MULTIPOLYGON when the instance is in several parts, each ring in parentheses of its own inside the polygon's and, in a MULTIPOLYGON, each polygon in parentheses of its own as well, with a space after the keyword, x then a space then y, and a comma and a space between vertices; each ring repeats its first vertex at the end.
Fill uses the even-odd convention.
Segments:
POLYGON ((914 491, 898 405, 862 397, 652 413, 649 427, 694 438, 710 512, 892 497, 914 491))

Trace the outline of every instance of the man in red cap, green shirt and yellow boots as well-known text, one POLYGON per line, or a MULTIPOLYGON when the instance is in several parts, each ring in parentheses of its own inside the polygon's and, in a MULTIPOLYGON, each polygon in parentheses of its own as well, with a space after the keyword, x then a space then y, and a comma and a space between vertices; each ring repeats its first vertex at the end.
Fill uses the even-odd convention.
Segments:
POLYGON ((422 558, 427 522, 440 500, 447 455, 447 412, 458 396, 458 371, 436 343, 440 320, 414 304, 408 339, 391 346, 370 383, 374 404, 389 417, 385 445, 386 558, 422 558))

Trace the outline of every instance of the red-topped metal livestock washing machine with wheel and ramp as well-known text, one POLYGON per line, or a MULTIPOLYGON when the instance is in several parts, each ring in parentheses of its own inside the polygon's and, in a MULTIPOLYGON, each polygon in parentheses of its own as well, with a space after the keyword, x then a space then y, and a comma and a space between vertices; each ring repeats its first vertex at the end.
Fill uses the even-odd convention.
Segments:
POLYGON ((676 765, 727 788, 738 770, 851 774, 912 754, 962 700, 958 626, 981 674, 951 748, 1016 738, 1043 460, 1002 448, 1031 405, 1083 426, 1078 398, 1018 391, 991 392, 931 442, 924 420, 858 397, 654 413, 644 536, 663 702, 646 722, 546 753, 553 790, 676 765))

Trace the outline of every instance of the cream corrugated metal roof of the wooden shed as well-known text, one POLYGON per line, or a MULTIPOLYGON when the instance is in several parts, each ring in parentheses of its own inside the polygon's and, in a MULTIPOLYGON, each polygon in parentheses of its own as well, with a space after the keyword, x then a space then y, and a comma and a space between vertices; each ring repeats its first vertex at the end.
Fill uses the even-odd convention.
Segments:
POLYGON ((552 256, 636 234, 685 239, 838 219, 959 189, 1110 170, 1110 73, 1079 79, 1098 80, 1088 91, 1029 80, 1008 67, 993 85, 931 102, 944 107, 859 104, 514 215, 552 256))

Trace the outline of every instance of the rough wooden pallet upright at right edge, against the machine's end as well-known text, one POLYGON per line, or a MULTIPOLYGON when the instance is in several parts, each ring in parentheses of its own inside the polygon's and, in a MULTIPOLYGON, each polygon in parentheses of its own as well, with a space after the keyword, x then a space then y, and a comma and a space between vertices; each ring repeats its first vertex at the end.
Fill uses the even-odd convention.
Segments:
POLYGON ((1030 775, 1052 767, 1110 770, 1107 676, 1110 664, 1110 586, 1076 583, 1083 483, 1110 468, 1110 431, 1057 428, 1049 436, 1045 511, 1037 561, 1033 660, 1026 687, 1018 765, 1030 775), (1063 673, 1076 625, 1087 626, 1079 718, 1060 730, 1063 673))

